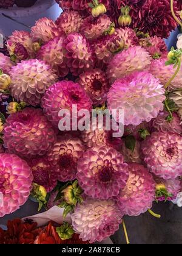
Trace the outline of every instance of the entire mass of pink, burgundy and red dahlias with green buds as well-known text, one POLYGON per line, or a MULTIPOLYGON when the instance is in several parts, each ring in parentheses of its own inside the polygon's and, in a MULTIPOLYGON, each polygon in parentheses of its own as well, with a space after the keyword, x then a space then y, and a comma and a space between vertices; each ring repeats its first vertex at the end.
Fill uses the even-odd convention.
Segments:
POLYGON ((100 243, 121 223, 129 243, 124 215, 182 205, 182 49, 163 39, 181 1, 56 2, 0 53, 0 216, 30 196, 70 226, 16 220, 1 243, 100 243))

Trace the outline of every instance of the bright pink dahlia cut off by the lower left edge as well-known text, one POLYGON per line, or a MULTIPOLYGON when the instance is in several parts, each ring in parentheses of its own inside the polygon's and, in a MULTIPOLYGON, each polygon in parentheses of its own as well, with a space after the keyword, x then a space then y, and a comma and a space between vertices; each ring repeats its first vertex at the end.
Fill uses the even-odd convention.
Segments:
POLYGON ((17 155, 0 154, 0 217, 15 212, 30 194, 32 171, 17 155))

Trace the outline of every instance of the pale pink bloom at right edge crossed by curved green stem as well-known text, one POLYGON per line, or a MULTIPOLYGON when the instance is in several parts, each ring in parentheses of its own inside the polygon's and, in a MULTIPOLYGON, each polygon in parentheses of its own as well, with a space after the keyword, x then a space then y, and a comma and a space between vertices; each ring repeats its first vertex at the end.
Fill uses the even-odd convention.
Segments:
MULTIPOLYGON (((165 85, 169 79, 174 75, 175 69, 173 65, 165 65, 167 58, 161 58, 158 60, 152 60, 149 72, 153 74, 153 76, 160 79, 161 84, 165 85)), ((180 71, 174 80, 172 80, 170 84, 170 88, 178 89, 182 87, 182 66, 180 71)))

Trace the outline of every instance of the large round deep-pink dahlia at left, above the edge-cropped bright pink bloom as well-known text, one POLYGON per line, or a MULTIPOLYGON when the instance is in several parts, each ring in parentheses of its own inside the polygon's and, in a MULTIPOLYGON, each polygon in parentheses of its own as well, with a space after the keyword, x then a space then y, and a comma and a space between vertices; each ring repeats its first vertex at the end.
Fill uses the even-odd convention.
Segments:
POLYGON ((41 109, 27 107, 6 119, 4 143, 13 154, 26 158, 44 155, 55 141, 55 130, 41 109))

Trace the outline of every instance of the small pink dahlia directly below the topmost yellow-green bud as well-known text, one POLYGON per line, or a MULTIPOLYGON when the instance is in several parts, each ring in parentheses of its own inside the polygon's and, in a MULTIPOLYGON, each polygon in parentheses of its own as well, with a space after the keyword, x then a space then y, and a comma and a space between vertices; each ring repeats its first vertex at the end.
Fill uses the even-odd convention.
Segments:
POLYGON ((81 32, 87 39, 95 40, 106 35, 111 24, 112 21, 106 14, 100 15, 97 18, 93 18, 93 16, 90 15, 83 20, 81 32))

